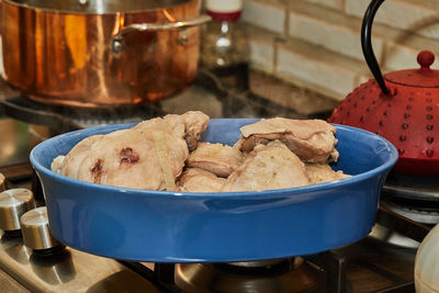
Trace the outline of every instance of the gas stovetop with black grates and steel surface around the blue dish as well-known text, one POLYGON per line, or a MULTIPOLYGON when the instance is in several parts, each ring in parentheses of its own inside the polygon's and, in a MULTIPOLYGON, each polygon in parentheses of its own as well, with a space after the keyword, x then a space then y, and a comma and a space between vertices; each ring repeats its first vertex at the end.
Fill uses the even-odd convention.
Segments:
MULTIPOLYGON (((261 77, 263 75, 257 76, 258 82, 261 77)), ((291 86, 291 90, 294 89, 291 86)), ((308 94, 302 89, 297 92, 301 99, 308 94)), ((319 99, 313 93, 309 97, 319 99)), ((211 117, 292 119, 326 119, 331 111, 329 108, 314 112, 297 111, 275 101, 279 100, 254 92, 251 87, 248 91, 236 92, 203 70, 195 83, 177 97, 157 103, 105 109, 41 104, 1 81, 0 132, 4 139, 0 143, 0 172, 7 178, 7 189, 30 189, 37 205, 44 205, 40 182, 33 176, 27 156, 35 144, 58 133, 110 123, 138 122, 188 110, 200 110, 211 117)), ((401 187, 397 179, 392 180, 384 188, 376 225, 369 236, 346 247, 289 259, 184 264, 128 262, 92 256, 69 247, 41 253, 24 245, 20 232, 3 233, 0 291, 414 292, 416 250, 432 223, 419 222, 394 209, 395 204, 408 209, 404 205, 407 202, 401 202, 404 196, 397 195, 407 187, 401 187)), ((415 198, 417 190, 423 192, 425 188, 415 187, 415 198)), ((432 198, 439 194, 435 187, 429 191, 432 198)), ((435 215, 436 211, 428 212, 435 215)), ((421 213, 426 213, 425 209, 421 213)))

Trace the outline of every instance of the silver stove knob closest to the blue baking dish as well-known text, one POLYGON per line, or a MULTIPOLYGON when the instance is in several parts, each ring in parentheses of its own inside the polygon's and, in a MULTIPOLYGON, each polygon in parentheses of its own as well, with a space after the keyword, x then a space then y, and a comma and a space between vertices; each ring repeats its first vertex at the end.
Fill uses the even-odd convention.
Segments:
POLYGON ((24 245, 29 248, 42 250, 60 245, 48 229, 46 206, 36 207, 21 216, 21 230, 24 245))

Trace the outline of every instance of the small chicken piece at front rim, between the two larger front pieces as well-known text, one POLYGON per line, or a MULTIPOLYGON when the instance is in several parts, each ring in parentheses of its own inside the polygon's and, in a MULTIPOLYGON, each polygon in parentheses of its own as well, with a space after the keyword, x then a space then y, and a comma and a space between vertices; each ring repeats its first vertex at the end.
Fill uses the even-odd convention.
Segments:
POLYGON ((188 168, 178 181, 178 191, 182 192, 219 192, 226 180, 216 174, 200 169, 188 168))

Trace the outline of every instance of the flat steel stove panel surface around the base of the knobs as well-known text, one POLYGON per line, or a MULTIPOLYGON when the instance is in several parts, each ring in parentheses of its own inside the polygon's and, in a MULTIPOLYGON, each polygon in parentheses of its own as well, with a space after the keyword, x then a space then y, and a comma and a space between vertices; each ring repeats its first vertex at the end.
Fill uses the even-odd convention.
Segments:
POLYGON ((71 248, 40 256, 21 237, 0 235, 0 269, 31 292, 159 292, 115 260, 71 248))

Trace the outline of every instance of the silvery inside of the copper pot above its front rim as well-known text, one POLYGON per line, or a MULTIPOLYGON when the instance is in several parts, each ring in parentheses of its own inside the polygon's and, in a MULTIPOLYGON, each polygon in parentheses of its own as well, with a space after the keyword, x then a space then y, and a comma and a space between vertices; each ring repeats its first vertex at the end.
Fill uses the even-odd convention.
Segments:
POLYGON ((47 11, 103 14, 164 9, 183 4, 189 1, 190 0, 4 0, 3 2, 47 11))

